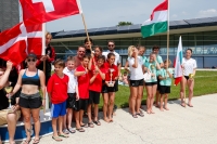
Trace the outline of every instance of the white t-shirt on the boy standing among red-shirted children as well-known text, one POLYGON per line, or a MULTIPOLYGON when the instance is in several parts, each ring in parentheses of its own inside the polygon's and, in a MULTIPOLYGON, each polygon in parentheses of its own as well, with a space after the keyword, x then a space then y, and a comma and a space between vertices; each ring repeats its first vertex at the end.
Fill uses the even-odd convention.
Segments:
POLYGON ((75 77, 75 75, 74 75, 75 70, 68 70, 68 68, 65 67, 63 69, 63 73, 65 75, 67 75, 68 78, 69 78, 67 93, 75 93, 76 92, 76 86, 78 86, 77 77, 75 77))

